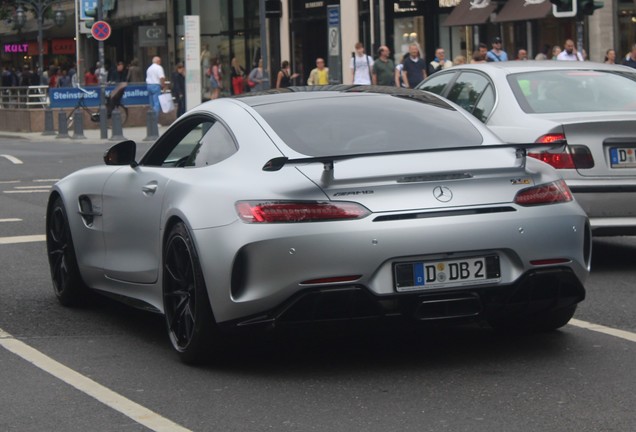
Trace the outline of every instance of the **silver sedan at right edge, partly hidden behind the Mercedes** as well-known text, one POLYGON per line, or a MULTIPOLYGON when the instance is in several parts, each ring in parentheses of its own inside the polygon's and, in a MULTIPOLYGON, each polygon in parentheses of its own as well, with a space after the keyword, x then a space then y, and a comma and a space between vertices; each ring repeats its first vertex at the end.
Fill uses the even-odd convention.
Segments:
POLYGON ((636 70, 591 62, 463 65, 419 89, 466 109, 509 143, 566 140, 531 156, 565 178, 594 235, 636 234, 636 70))

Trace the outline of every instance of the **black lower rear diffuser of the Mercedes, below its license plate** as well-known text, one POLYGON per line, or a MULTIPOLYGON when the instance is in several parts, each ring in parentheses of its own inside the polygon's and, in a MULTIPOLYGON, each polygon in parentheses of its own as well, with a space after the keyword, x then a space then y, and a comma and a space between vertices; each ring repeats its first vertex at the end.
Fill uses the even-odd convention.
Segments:
POLYGON ((334 321, 397 318, 411 322, 480 321, 531 316, 573 306, 585 289, 567 267, 533 270, 509 286, 446 292, 376 295, 362 285, 312 288, 262 314, 223 323, 225 328, 280 327, 334 321))

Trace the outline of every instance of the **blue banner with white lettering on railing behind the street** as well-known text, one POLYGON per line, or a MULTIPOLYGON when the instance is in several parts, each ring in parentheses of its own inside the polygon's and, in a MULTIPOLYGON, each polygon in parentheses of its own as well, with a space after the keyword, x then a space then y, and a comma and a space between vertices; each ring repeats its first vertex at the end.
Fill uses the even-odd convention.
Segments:
MULTIPOLYGON (((104 92, 106 96, 115 88, 114 85, 106 86, 104 92)), ((99 86, 84 87, 88 93, 75 87, 60 87, 49 89, 49 100, 51 108, 73 108, 77 101, 84 97, 86 106, 99 106, 99 86)), ((124 89, 124 96, 121 103, 125 106, 148 105, 148 89, 145 85, 128 85, 124 89)))

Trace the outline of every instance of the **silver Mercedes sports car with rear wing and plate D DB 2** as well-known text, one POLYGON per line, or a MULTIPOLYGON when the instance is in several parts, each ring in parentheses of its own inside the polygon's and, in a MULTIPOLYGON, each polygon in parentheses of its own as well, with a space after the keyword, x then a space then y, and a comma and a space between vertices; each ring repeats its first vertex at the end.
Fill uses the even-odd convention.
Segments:
POLYGON ((140 159, 59 181, 64 305, 165 315, 183 361, 237 327, 372 318, 555 329, 584 296, 587 216, 557 172, 439 96, 292 88, 205 103, 140 159), (489 144, 488 146, 482 144, 489 144))

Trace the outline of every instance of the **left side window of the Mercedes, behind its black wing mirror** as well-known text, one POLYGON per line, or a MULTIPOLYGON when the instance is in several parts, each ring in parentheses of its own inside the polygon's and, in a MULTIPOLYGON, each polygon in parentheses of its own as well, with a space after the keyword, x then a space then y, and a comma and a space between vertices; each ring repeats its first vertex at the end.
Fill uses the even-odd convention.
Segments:
POLYGON ((164 134, 140 164, 171 168, 202 167, 227 159, 237 149, 223 123, 209 117, 193 116, 164 134))

